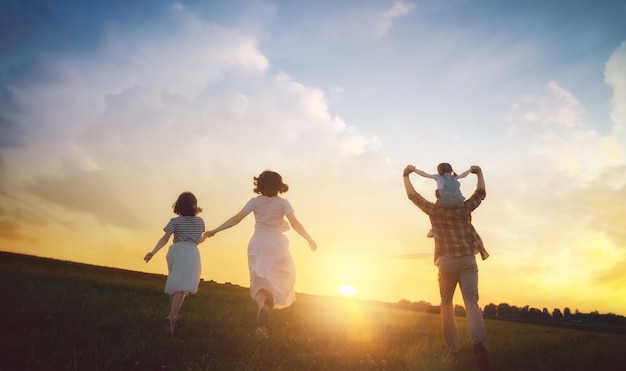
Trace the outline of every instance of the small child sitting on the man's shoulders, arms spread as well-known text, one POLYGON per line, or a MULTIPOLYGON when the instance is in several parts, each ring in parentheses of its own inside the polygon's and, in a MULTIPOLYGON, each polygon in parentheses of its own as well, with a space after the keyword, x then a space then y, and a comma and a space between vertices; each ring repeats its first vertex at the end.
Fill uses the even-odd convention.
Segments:
MULTIPOLYGON (((415 169, 415 173, 437 181, 437 189, 435 190, 437 205, 441 207, 463 206, 465 197, 463 197, 461 193, 461 184, 458 179, 465 178, 467 174, 470 173, 470 170, 466 170, 457 175, 454 170, 452 170, 452 165, 447 162, 442 162, 437 165, 437 174, 428 174, 419 169, 415 169)), ((433 230, 428 231, 426 236, 433 237, 433 230)))

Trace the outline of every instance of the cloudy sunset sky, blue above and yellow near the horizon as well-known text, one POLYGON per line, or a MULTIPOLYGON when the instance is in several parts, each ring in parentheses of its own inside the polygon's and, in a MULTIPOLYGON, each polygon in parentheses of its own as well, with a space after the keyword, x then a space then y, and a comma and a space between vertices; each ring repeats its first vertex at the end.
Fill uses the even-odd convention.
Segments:
MULTIPOLYGON (((626 0, 4 1, 0 84, 0 250, 166 274, 177 196, 212 229, 271 169, 297 292, 437 305, 402 170, 479 165, 481 306, 626 315, 626 0)), ((205 280, 248 286, 253 225, 205 280)))

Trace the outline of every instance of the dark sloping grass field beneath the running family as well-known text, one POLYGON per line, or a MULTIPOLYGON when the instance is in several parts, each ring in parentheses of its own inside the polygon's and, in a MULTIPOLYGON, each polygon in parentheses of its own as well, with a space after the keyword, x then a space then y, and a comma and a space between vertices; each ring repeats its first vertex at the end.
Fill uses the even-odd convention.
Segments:
MULTIPOLYGON (((299 295, 257 342, 246 288, 202 282, 174 338, 165 276, 0 252, 1 370, 476 370, 439 316, 299 295)), ((485 320, 497 370, 624 370, 626 335, 485 320)))

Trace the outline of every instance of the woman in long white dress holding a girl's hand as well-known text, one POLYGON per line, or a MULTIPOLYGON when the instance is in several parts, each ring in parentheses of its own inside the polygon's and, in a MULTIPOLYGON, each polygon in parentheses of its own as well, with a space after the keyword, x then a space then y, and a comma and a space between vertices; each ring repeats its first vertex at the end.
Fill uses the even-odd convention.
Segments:
POLYGON ((250 295, 257 304, 255 336, 258 339, 268 336, 267 325, 272 309, 288 307, 296 300, 296 270, 289 253, 289 240, 283 232, 288 231, 291 225, 309 242, 312 251, 317 249, 317 244, 296 218, 289 201, 278 196, 287 190, 289 186, 283 183, 280 174, 269 170, 262 172, 254 177, 254 193, 259 196, 251 198, 241 211, 204 234, 204 237, 212 237, 239 224, 250 212, 254 213, 254 234, 248 242, 248 269, 250 295))

